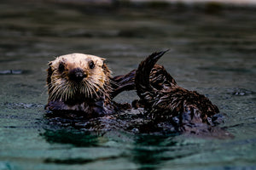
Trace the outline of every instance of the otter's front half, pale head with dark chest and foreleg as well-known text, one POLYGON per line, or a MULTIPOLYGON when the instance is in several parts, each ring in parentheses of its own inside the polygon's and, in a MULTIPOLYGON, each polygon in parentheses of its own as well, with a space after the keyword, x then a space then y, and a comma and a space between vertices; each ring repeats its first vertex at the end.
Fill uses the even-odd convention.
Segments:
POLYGON ((47 85, 49 111, 76 111, 88 117, 104 116, 122 109, 112 99, 134 83, 135 71, 112 77, 103 58, 88 54, 67 54, 49 62, 47 85))

